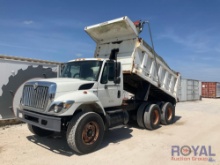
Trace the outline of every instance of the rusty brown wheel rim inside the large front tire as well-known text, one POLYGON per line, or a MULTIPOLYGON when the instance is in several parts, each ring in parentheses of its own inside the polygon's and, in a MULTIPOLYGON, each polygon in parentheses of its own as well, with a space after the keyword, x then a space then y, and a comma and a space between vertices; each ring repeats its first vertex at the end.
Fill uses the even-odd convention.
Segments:
POLYGON ((99 137, 99 126, 96 122, 87 123, 82 132, 82 140, 86 145, 94 144, 99 137))

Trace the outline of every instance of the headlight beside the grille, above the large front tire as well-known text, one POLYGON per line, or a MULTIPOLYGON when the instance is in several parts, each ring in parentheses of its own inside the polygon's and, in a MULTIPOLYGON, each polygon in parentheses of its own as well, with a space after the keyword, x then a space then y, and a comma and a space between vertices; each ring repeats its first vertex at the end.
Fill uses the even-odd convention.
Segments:
POLYGON ((65 101, 65 102, 54 102, 50 106, 49 112, 59 113, 63 110, 68 110, 72 105, 74 101, 65 101))

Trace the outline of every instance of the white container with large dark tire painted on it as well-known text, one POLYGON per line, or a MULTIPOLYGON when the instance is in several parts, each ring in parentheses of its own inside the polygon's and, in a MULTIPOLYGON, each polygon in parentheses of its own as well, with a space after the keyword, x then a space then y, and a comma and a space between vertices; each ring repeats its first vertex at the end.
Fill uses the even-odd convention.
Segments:
POLYGON ((0 120, 15 118, 26 81, 57 77, 59 66, 56 62, 0 55, 0 120))

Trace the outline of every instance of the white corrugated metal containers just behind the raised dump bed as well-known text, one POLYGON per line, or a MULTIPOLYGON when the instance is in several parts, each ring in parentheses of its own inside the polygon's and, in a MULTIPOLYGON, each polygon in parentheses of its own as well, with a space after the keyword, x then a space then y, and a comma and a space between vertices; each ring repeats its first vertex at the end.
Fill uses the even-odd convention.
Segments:
POLYGON ((178 99, 179 101, 201 100, 201 81, 181 78, 178 99))

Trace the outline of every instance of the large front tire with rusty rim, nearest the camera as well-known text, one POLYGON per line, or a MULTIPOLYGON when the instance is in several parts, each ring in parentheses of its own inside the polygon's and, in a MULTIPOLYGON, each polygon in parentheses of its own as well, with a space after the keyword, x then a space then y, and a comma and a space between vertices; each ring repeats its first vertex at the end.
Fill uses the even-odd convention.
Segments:
POLYGON ((79 154, 95 151, 104 136, 104 122, 94 112, 80 112, 72 118, 67 128, 67 143, 79 154))

